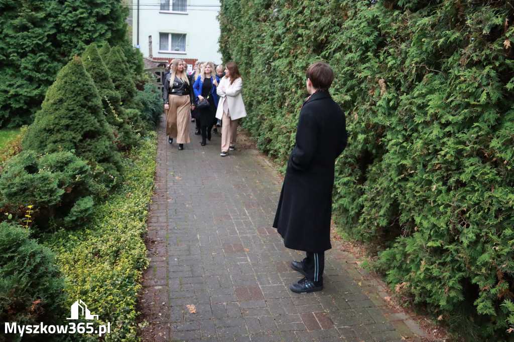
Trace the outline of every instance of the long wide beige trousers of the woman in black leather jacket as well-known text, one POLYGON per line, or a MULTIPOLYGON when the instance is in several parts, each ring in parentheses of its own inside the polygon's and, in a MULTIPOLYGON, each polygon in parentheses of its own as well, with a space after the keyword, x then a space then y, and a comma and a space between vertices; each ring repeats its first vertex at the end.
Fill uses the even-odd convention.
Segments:
POLYGON ((177 144, 190 143, 189 113, 190 99, 188 95, 168 95, 170 109, 166 112, 166 135, 176 138, 177 144))

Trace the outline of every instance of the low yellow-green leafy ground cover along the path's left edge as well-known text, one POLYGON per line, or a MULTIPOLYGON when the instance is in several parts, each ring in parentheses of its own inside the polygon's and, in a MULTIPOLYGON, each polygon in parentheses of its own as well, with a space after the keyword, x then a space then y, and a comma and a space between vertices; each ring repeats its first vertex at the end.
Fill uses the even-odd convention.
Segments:
MULTIPOLYGON (((112 332, 105 341, 138 340, 136 300, 141 270, 148 264, 142 237, 153 194, 156 145, 152 132, 123 159, 127 170, 123 185, 96 207, 94 219, 84 229, 43 237, 56 252, 66 279, 65 307, 82 299, 101 324, 111 322, 112 332)), ((77 338, 98 340, 98 336, 77 338)))

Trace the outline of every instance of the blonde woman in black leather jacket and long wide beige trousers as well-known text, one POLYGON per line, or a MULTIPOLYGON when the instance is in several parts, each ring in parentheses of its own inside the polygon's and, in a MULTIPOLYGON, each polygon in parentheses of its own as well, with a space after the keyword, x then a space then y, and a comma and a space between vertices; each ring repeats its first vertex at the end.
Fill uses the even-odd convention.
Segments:
POLYGON ((166 111, 166 135, 168 142, 177 139, 178 149, 184 149, 189 139, 189 112, 194 109, 194 94, 191 80, 186 72, 186 63, 173 60, 171 72, 164 81, 164 110, 166 111))

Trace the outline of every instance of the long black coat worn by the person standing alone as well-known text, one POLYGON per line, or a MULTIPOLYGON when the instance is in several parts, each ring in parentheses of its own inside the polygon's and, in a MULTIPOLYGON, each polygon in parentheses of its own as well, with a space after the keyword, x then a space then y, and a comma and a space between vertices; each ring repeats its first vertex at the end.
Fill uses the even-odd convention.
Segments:
POLYGON ((343 111, 328 91, 315 92, 300 110, 273 222, 287 248, 313 253, 332 248, 334 166, 346 140, 343 111))

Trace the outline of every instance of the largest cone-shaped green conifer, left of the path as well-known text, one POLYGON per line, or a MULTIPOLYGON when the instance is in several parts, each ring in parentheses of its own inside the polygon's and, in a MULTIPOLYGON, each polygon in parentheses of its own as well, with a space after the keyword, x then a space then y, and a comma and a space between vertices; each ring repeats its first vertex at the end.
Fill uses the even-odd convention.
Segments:
POLYGON ((48 89, 22 147, 37 153, 73 151, 91 165, 100 166, 94 169, 100 182, 116 183, 121 157, 105 121, 98 90, 79 57, 59 72, 48 89))

